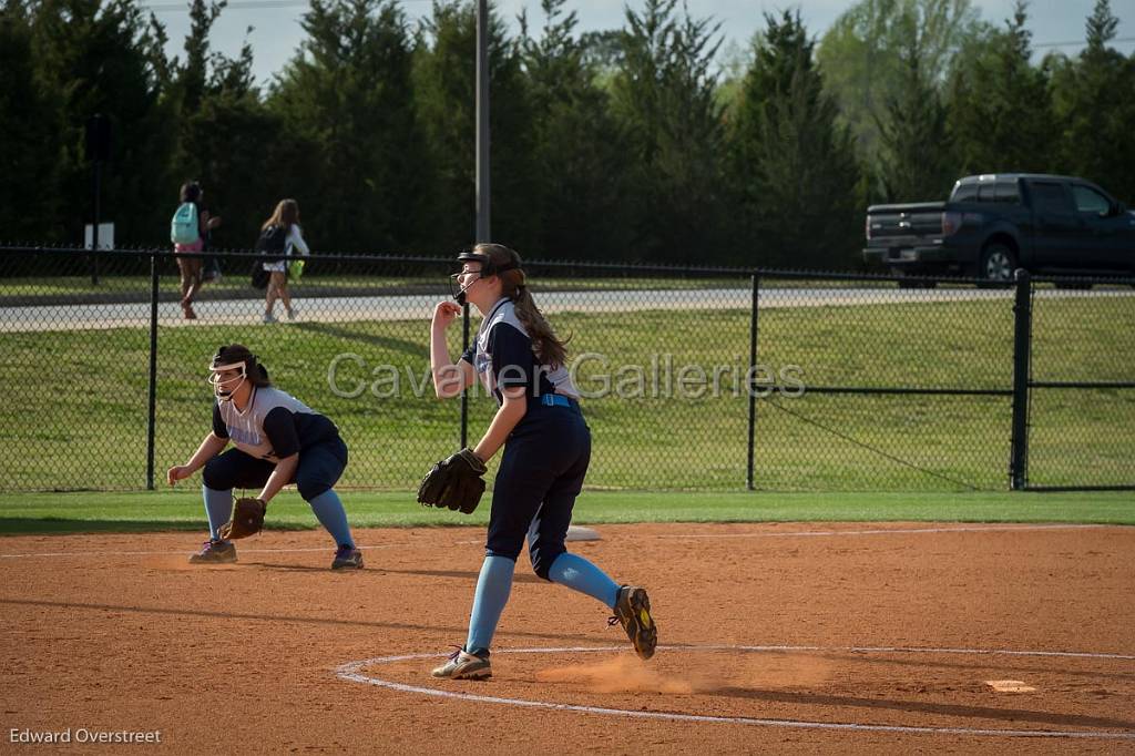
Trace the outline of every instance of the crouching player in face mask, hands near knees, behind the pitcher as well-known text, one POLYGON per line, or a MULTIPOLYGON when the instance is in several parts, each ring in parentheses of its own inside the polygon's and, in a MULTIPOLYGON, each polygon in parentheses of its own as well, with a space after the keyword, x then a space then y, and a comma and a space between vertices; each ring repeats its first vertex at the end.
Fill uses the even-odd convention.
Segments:
MULTIPOLYGON (((294 482, 316 518, 335 538, 333 570, 361 568, 343 503, 333 487, 347 464, 347 447, 338 428, 291 394, 275 388, 264 369, 242 344, 221 346, 210 364, 212 432, 185 464, 169 469, 169 485, 204 468, 201 492, 209 518, 209 540, 190 561, 219 564, 236 561, 236 546, 220 529, 233 512, 234 488, 260 488, 267 506, 294 482), (236 448, 224 454, 229 440, 236 448)), ((235 516, 235 515, 234 515, 235 516)))

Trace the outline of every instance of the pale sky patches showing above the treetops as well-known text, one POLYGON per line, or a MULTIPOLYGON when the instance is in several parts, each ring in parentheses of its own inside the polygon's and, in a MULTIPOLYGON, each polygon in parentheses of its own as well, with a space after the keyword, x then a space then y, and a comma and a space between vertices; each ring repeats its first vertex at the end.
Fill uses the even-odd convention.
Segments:
MULTIPOLYGON (((431 0, 401 0, 401 5, 413 20, 429 15, 431 0)), ((495 5, 513 33, 519 32, 515 19, 524 9, 533 30, 543 24, 539 0, 497 0, 495 5)), ((641 0, 568 0, 565 10, 577 12, 579 32, 590 32, 622 27, 628 5, 634 10, 642 7, 641 0)), ((695 18, 713 17, 721 22, 723 51, 731 45, 747 45, 753 35, 764 28, 766 11, 779 14, 785 8, 799 9, 805 27, 821 37, 852 5, 852 0, 687 0, 689 12, 695 18)), ((1012 12, 1014 0, 973 0, 973 6, 983 19, 1000 25, 1012 12)), ((1027 24, 1033 32, 1037 54, 1052 48, 1075 54, 1083 47, 1084 20, 1094 6, 1095 0, 1032 0, 1027 24)), ((184 58, 182 47, 190 30, 188 3, 184 0, 143 0, 143 7, 153 8, 158 19, 165 24, 170 40, 167 53, 184 58)), ((235 56, 247 36, 252 43, 257 79, 261 84, 268 83, 294 56, 303 40, 300 19, 306 8, 305 0, 229 0, 229 7, 213 30, 215 49, 235 56), (253 30, 247 33, 250 26, 253 30)), ((1119 19, 1116 36, 1123 40, 1115 47, 1125 54, 1132 54, 1135 52, 1135 0, 1111 0, 1111 10, 1119 19)))

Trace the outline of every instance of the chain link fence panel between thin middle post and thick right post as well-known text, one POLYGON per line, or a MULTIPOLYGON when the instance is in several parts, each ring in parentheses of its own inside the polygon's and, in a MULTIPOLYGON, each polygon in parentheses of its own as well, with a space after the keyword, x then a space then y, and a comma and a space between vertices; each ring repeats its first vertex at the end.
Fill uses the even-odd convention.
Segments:
POLYGON ((807 389, 758 402, 758 487, 1004 487, 1012 291, 790 283, 762 276, 758 362, 807 389))

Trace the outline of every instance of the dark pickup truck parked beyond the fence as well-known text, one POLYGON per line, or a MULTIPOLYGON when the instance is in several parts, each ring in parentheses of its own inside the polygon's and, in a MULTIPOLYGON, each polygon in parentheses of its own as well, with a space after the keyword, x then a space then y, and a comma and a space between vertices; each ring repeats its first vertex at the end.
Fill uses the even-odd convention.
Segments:
POLYGON ((945 202, 871 205, 866 233, 864 260, 897 276, 1135 275, 1135 212, 1069 176, 967 176, 945 202))

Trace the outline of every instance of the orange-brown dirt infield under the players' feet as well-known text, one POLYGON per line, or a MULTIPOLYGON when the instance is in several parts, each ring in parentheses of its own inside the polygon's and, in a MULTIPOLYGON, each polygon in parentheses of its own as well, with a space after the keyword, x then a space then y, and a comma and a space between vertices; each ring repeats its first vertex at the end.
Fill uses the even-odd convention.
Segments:
POLYGON ((656 657, 521 557, 480 683, 428 675, 480 530, 360 531, 353 573, 322 531, 217 568, 184 534, 0 539, 0 751, 1135 753, 1135 528, 598 530, 573 551, 649 588, 656 657), (160 745, 77 744, 123 731, 160 745))

